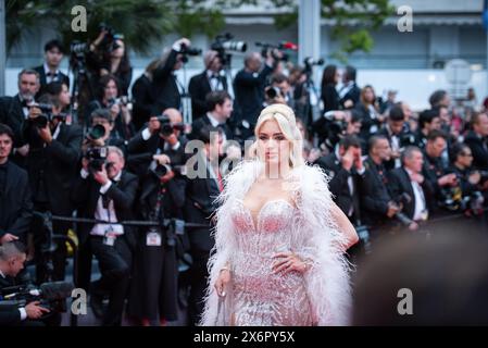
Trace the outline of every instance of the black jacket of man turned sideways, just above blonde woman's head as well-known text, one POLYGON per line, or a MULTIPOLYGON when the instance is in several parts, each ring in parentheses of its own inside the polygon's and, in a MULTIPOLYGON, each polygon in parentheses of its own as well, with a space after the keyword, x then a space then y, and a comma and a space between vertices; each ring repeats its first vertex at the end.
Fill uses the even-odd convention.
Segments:
POLYGON ((251 126, 255 125, 258 116, 263 109, 266 78, 272 72, 272 67, 264 65, 259 74, 253 74, 246 70, 237 73, 234 78, 236 124, 241 120, 247 120, 251 126))

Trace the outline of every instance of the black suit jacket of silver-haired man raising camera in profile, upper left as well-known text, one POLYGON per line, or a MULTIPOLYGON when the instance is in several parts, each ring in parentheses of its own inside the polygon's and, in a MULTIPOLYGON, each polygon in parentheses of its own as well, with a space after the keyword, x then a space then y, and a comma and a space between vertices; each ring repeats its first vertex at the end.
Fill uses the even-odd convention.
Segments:
POLYGON ((161 114, 167 108, 179 109, 182 96, 179 94, 173 67, 176 64, 178 52, 172 50, 163 66, 158 67, 153 74, 152 86, 155 94, 155 110, 161 114))

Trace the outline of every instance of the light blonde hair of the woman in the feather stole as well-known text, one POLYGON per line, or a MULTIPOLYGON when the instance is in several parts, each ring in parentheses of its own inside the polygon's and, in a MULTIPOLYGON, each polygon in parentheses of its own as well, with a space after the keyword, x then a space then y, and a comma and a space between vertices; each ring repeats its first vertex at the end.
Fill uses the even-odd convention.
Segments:
POLYGON ((293 110, 286 104, 272 104, 261 111, 258 123, 254 128, 255 142, 253 144, 255 153, 258 153, 259 133, 266 121, 274 120, 278 124, 285 138, 290 142, 289 165, 295 169, 304 164, 303 160, 303 139, 300 129, 297 126, 293 110))

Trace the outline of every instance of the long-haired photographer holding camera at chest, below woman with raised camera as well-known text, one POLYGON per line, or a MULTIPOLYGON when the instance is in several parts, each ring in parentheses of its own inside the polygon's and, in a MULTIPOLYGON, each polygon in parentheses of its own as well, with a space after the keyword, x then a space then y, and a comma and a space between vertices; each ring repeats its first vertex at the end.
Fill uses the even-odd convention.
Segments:
POLYGON ((132 122, 130 103, 127 97, 120 97, 117 78, 114 75, 101 77, 98 95, 98 99, 92 100, 86 110, 86 124, 89 125, 90 115, 95 110, 109 109, 117 137, 128 141, 135 134, 135 127, 132 122))

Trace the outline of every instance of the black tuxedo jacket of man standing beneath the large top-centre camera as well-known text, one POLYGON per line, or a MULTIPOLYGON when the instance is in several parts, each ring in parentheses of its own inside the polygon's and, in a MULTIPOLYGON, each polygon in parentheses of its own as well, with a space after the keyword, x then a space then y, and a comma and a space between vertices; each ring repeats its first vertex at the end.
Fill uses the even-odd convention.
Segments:
MULTIPOLYGON (((227 90, 227 79, 225 76, 218 75, 217 90, 227 90)), ((193 114, 193 120, 204 115, 209 111, 209 108, 207 108, 205 97, 211 91, 212 87, 210 86, 207 71, 203 71, 202 73, 190 78, 188 92, 191 96, 191 111, 193 114)))

